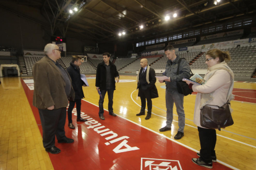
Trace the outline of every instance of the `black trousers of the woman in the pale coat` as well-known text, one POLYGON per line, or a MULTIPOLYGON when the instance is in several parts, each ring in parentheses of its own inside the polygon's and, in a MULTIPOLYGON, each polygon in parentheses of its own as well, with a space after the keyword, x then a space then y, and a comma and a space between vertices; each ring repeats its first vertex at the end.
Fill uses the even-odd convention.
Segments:
POLYGON ((200 158, 206 163, 211 163, 211 156, 216 156, 216 130, 198 127, 198 132, 201 145, 200 158))

